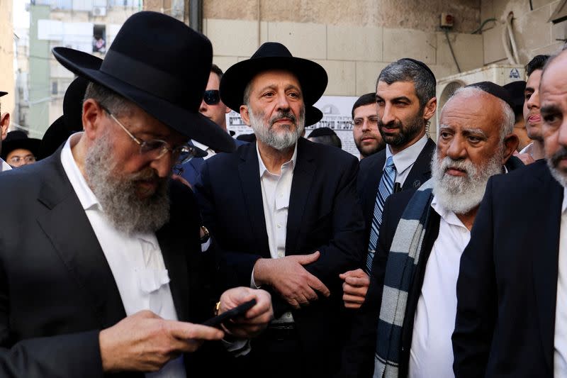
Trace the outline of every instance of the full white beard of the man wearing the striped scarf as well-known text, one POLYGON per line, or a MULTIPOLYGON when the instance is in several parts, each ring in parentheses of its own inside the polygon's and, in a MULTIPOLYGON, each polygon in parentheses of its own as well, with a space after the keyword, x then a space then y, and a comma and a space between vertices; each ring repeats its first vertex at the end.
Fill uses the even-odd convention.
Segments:
POLYGON ((464 214, 481 204, 490 176, 502 173, 503 149, 500 149, 483 167, 468 160, 445 157, 439 161, 437 150, 431 161, 433 194, 439 204, 456 214, 464 214), (447 169, 466 172, 465 176, 451 176, 447 169))

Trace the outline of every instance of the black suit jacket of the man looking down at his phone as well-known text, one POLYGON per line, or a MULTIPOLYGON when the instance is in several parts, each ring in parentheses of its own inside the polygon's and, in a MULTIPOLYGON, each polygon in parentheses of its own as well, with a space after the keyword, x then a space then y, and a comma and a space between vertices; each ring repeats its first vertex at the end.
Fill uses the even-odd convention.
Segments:
MULTIPOLYGON (((99 331, 125 310, 60 152, 0 174, 0 188, 0 375, 101 377, 99 331)), ((171 219, 157 239, 179 320, 202 321, 212 306, 196 202, 179 183, 170 191, 171 219)), ((196 356, 185 356, 192 371, 210 371, 196 356)))

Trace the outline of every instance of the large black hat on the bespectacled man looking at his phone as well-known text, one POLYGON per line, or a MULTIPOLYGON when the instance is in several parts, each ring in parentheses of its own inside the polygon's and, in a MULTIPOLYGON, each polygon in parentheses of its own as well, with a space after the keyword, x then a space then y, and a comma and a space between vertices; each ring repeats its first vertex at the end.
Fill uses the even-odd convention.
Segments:
POLYGON ((235 150, 230 135, 198 112, 213 47, 181 21, 157 12, 133 14, 104 60, 70 48, 52 52, 68 70, 115 91, 179 133, 215 150, 235 150))

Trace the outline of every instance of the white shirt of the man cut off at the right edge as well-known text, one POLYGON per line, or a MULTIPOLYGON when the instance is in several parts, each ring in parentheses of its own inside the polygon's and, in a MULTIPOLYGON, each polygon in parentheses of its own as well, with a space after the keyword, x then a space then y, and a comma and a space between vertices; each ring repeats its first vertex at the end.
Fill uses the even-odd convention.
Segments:
POLYGON ((554 377, 567 377, 567 189, 563 189, 555 304, 554 377))

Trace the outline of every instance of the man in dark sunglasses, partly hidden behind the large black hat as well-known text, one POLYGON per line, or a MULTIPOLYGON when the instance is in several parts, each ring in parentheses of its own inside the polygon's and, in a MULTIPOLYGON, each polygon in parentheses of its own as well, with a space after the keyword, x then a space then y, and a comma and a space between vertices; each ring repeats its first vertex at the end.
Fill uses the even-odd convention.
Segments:
MULTIPOLYGON (((210 74, 208 77, 207 82, 207 89, 205 94, 203 94, 203 101, 201 101, 201 106, 199 106, 199 113, 203 114, 216 123, 220 128, 225 130, 226 129, 226 114, 230 113, 230 108, 228 108, 224 103, 223 100, 220 99, 220 93, 218 91, 218 87, 220 85, 220 79, 223 77, 223 70, 217 65, 213 65, 210 68, 210 74)), ((210 148, 208 145, 204 145, 203 143, 198 142, 197 140, 191 140, 191 143, 201 150, 207 152, 205 157, 194 157, 189 162, 184 163, 181 169, 181 177, 187 180, 189 184, 193 185, 197 182, 199 172, 201 171, 201 166, 209 157, 216 154, 215 150, 210 148)), ((242 140, 235 140, 235 144, 237 146, 244 144, 242 140)))

